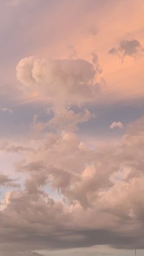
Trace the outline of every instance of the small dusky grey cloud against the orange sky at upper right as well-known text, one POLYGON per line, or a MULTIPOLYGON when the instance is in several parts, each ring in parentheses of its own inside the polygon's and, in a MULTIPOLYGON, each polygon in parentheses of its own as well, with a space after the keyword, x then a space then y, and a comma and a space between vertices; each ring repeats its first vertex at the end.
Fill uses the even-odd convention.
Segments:
POLYGON ((109 53, 119 56, 122 60, 126 56, 137 57, 142 55, 144 48, 137 39, 134 40, 122 40, 118 48, 112 48, 109 53))

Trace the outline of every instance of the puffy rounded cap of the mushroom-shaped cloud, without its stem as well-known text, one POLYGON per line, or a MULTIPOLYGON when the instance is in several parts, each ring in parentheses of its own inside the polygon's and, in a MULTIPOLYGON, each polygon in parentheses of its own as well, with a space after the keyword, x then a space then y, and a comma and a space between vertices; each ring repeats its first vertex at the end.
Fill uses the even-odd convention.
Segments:
POLYGON ((96 98, 95 67, 84 59, 27 57, 16 67, 16 77, 30 89, 47 95, 53 103, 80 104, 96 98), (59 92, 59 93, 58 93, 59 92))

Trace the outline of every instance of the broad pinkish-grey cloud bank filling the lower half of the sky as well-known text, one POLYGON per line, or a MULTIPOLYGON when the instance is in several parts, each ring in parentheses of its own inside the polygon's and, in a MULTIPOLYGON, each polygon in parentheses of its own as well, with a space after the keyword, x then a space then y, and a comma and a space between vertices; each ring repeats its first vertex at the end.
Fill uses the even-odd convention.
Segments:
POLYGON ((1 251, 143 248, 143 120, 128 125, 118 144, 93 149, 68 131, 37 138, 37 150, 16 166, 26 174, 24 189, 7 193, 0 211, 1 251))

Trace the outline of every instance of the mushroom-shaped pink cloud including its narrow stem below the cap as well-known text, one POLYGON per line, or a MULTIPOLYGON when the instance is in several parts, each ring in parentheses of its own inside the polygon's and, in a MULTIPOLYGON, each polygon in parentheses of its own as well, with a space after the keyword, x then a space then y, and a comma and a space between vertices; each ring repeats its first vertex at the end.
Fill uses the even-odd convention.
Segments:
MULTIPOLYGON (((77 113, 71 109, 73 105, 90 103, 99 95, 96 75, 101 73, 101 68, 98 61, 93 62, 95 65, 84 59, 46 61, 34 56, 20 60, 16 67, 17 79, 24 84, 24 90, 37 90, 39 97, 46 98, 54 114, 49 122, 41 123, 42 129, 51 126, 74 131, 79 123, 95 118, 86 108, 77 113)), ((37 120, 34 126, 38 126, 37 120)))

